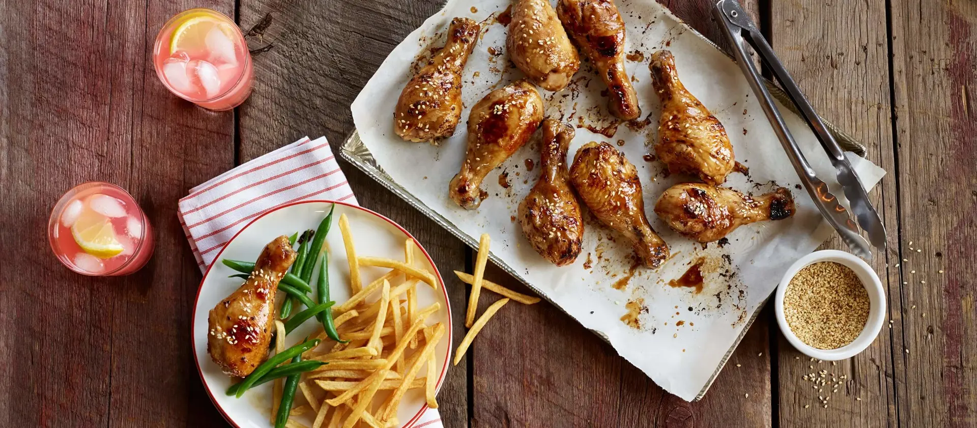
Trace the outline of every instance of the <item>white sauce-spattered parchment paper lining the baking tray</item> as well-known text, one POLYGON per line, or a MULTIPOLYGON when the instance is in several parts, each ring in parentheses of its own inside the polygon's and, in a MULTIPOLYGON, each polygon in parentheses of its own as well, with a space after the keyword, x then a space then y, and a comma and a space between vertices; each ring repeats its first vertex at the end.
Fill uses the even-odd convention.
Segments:
MULTIPOLYGON (((638 92, 642 118, 618 124, 607 112, 604 84, 589 64, 582 64, 573 84, 558 93, 539 89, 548 116, 577 126, 568 164, 589 141, 607 141, 639 170, 649 220, 668 242, 673 257, 658 272, 633 268, 629 245, 585 215, 583 251, 572 266, 557 268, 539 257, 515 221, 516 207, 535 183, 539 133, 523 149, 488 175, 488 198, 475 211, 447 197, 447 184, 465 155, 467 132, 462 122, 439 146, 407 143, 393 131, 394 106, 416 64, 430 48, 444 45, 454 17, 481 21, 483 34, 464 73, 465 112, 490 90, 522 77, 505 54, 506 26, 497 17, 509 0, 449 0, 445 8, 404 39, 387 57, 353 103, 353 117, 376 163, 408 193, 441 214, 464 234, 492 237, 491 252, 520 279, 531 284, 584 326, 605 336, 616 351, 641 368, 658 385, 685 400, 701 397, 732 352, 743 329, 777 286, 787 267, 813 251, 833 231, 799 183, 766 116, 755 102, 740 68, 701 35, 671 16, 653 0, 622 0, 618 8, 627 26, 627 71, 638 92), (671 50, 686 87, 725 125, 737 160, 747 175, 730 175, 726 186, 745 193, 786 187, 797 213, 780 222, 748 225, 729 235, 724 245, 703 247, 671 232, 652 211, 658 195, 690 177, 671 176, 654 154, 658 97, 648 64, 658 49, 671 50), (592 132, 596 131, 596 132, 592 132), (701 291, 669 286, 701 262, 701 291), (632 321, 621 321, 631 315, 632 321)), ((504 20, 503 20, 504 21, 504 20)), ((797 142, 819 176, 833 182, 828 158, 806 124, 782 108, 797 142)), ((867 188, 884 171, 849 153, 867 188)), ((834 191, 837 191, 835 183, 834 191)), ((840 192, 834 192, 843 198, 840 192)))

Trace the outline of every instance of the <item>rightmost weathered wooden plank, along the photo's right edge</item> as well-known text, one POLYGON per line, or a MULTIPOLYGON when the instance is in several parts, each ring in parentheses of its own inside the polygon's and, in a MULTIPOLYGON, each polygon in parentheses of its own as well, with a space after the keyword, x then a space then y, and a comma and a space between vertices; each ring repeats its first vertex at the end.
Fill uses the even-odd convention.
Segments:
POLYGON ((893 250, 906 259, 894 269, 905 283, 890 294, 898 417, 974 426, 977 4, 891 4, 902 221, 893 250))

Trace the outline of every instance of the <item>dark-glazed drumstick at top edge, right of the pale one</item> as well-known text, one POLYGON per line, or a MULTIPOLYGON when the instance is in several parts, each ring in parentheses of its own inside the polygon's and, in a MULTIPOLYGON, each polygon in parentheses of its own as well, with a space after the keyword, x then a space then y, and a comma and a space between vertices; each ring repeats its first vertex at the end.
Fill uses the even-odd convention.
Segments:
POLYGON ((622 120, 641 115, 638 96, 624 71, 624 21, 614 0, 560 0, 556 13, 608 85, 611 114, 622 120))

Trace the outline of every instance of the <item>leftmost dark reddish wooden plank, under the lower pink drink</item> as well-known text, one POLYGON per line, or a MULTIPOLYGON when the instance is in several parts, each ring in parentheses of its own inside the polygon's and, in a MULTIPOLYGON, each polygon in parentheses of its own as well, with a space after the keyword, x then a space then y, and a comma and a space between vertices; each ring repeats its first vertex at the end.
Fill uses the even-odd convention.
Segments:
POLYGON ((232 165, 234 124, 178 101, 149 63, 158 28, 186 8, 0 3, 0 252, 14 262, 0 269, 4 426, 221 422, 192 362, 200 277, 175 209, 192 185, 232 165), (120 185, 146 210, 156 254, 138 274, 83 277, 52 255, 50 211, 89 180, 120 185))

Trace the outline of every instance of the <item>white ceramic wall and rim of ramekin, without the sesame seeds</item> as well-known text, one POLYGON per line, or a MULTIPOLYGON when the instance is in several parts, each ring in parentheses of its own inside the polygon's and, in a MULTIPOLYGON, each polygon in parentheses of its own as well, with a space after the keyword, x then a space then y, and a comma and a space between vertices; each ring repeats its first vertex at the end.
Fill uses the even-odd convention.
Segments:
POLYGON ((790 265, 790 268, 784 274, 784 278, 781 279, 780 285, 777 286, 777 296, 774 303, 774 311, 777 313, 777 323, 781 325, 781 331, 784 333, 787 342, 790 342, 794 348, 797 348, 798 351, 808 357, 829 362, 851 358, 865 351, 871 345, 871 342, 875 340, 875 337, 878 336, 878 331, 882 328, 882 323, 885 321, 885 290, 882 288, 882 281, 878 279, 875 271, 872 271, 871 266, 864 260, 853 254, 838 250, 815 251, 801 257, 800 260, 790 265), (835 262, 847 266, 862 280, 866 291, 869 292, 869 320, 865 323, 865 327, 862 328, 862 332, 852 343, 837 349, 818 349, 808 346, 797 338, 793 331, 790 331, 790 326, 787 324, 786 318, 784 318, 784 294, 787 289, 787 284, 790 283, 790 279, 794 275, 797 275, 797 272, 801 269, 818 262, 835 262))

